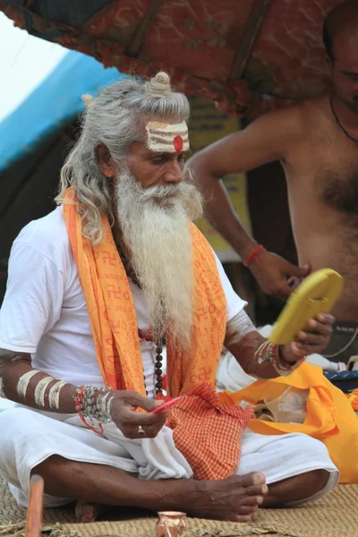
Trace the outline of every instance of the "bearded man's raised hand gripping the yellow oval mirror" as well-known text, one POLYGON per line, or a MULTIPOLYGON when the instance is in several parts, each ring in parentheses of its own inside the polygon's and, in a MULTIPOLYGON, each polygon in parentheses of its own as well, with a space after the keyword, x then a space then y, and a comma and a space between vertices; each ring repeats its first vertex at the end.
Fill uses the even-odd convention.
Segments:
POLYGON ((320 313, 316 319, 311 319, 308 326, 312 332, 301 330, 297 334, 297 341, 281 347, 281 356, 286 362, 301 360, 308 354, 321 354, 328 346, 333 332, 335 318, 326 313, 320 313))

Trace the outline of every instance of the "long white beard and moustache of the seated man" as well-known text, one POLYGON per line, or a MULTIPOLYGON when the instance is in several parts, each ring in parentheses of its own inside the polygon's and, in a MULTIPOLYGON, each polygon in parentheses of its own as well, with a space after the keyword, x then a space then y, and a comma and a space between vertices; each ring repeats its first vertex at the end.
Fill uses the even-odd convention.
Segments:
POLYGON ((127 166, 115 185, 115 213, 146 297, 153 333, 185 349, 192 337, 194 271, 189 223, 202 214, 192 183, 143 189, 127 166))

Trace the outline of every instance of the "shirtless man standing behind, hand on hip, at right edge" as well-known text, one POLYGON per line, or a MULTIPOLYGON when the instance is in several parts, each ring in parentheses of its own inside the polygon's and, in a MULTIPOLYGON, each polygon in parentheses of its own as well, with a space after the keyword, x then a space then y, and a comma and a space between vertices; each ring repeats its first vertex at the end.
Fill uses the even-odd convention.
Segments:
MULTIPOLYGON (((300 268, 261 250, 250 269, 267 294, 284 300, 288 277, 334 268, 345 291, 333 314, 327 357, 358 354, 358 2, 338 5, 324 23, 334 91, 268 112, 189 160, 206 196, 206 214, 243 260, 257 243, 243 228, 220 177, 279 160, 284 167, 300 268), (356 346, 354 346, 356 345, 356 346), (345 349, 345 347, 347 347, 345 349)), ((273 192, 273 195, 274 192, 273 192)), ((269 200, 268 200, 269 202, 269 200)))

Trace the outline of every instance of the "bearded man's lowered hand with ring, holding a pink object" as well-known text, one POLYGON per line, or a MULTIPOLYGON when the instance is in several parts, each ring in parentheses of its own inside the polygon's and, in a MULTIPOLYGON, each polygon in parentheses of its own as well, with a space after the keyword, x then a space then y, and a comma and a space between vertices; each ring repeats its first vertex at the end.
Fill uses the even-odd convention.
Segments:
POLYGON ((151 413, 161 405, 161 401, 142 397, 135 391, 115 391, 111 404, 112 420, 118 429, 122 430, 127 439, 154 439, 166 422, 166 411, 151 413), (135 412, 143 408, 148 413, 135 412), (139 432, 140 426, 144 433, 139 432))

